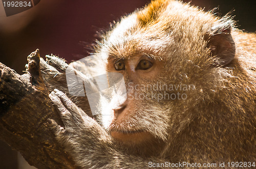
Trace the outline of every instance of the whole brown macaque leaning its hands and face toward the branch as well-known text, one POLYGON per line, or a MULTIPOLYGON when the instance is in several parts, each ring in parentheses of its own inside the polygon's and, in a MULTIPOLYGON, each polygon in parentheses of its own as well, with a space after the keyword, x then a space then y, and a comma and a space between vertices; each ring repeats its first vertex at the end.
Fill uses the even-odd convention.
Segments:
POLYGON ((255 34, 238 30, 230 16, 156 0, 101 38, 94 47, 101 60, 94 62, 122 75, 126 97, 99 99, 95 120, 66 91, 49 95, 64 126, 52 119, 48 125, 77 166, 256 165, 255 34))

